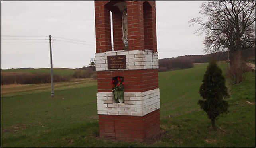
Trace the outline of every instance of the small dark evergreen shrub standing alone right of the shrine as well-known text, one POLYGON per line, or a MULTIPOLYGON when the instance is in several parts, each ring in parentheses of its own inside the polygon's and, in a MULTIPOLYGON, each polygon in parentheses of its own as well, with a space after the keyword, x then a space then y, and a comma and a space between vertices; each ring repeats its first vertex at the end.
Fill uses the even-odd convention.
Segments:
POLYGON ((218 116, 228 111, 228 102, 223 98, 229 97, 225 78, 215 61, 211 61, 207 66, 199 93, 203 100, 198 100, 198 104, 211 119, 212 127, 215 127, 218 116))

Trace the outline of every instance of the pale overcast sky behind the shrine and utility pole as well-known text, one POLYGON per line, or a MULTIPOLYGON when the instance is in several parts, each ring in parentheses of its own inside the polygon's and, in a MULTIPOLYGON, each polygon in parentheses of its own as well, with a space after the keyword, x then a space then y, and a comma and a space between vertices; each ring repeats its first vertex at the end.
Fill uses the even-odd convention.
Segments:
MULTIPOLYGON (((188 24, 199 16, 202 3, 156 1, 159 59, 204 54, 203 37, 193 34, 197 27, 188 24)), ((94 2, 1 1, 2 69, 50 67, 49 40, 45 40, 49 35, 55 39, 53 67, 88 66, 96 51, 94 2)))

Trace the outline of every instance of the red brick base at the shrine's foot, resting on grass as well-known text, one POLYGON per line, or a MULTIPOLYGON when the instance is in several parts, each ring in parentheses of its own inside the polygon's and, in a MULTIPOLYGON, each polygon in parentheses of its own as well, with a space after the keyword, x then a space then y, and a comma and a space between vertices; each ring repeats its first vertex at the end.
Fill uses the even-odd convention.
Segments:
POLYGON ((144 116, 98 115, 100 137, 123 141, 143 141, 160 130, 159 109, 144 116))

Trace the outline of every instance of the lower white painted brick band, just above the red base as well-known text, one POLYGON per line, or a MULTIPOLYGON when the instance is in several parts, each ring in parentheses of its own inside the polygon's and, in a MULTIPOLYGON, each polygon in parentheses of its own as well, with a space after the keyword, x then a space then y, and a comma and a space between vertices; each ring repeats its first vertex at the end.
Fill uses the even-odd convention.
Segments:
POLYGON ((97 93, 98 114, 144 116, 160 109, 159 88, 141 93, 124 93, 124 103, 113 103, 111 92, 97 93), (111 97, 111 100, 110 100, 111 97))

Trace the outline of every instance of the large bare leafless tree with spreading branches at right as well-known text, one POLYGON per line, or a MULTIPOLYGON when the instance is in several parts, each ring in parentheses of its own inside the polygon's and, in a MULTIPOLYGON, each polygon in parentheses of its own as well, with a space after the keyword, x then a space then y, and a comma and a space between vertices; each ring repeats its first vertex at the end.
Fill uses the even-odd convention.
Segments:
POLYGON ((189 21, 198 24, 195 33, 205 32, 208 53, 228 51, 230 66, 236 71, 236 83, 242 81, 242 50, 255 46, 255 1, 209 1, 201 5, 202 17, 189 21))

